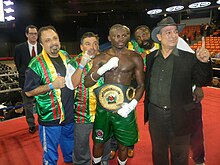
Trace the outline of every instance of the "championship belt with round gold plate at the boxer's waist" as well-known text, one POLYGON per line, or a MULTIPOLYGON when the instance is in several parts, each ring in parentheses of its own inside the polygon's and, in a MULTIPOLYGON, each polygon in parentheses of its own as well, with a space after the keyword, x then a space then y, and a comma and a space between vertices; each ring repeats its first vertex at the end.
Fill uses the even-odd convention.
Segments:
POLYGON ((99 106, 117 112, 123 103, 129 103, 135 96, 135 89, 121 84, 104 84, 94 89, 99 106))

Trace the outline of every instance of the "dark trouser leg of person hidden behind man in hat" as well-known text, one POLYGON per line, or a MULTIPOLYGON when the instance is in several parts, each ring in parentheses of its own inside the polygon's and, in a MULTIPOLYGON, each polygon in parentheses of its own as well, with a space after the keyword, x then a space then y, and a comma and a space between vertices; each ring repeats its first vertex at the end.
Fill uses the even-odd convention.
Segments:
POLYGON ((192 134, 190 137, 190 145, 195 163, 205 162, 204 135, 202 122, 202 105, 195 103, 196 109, 193 111, 192 134))

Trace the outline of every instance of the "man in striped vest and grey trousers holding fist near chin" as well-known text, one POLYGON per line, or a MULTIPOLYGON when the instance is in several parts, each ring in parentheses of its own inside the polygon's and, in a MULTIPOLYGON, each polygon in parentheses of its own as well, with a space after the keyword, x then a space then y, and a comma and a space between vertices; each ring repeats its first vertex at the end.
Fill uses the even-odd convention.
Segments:
MULTIPOLYGON (((78 74, 80 77, 78 79, 72 78, 72 84, 68 84, 69 88, 75 88, 73 163, 77 165, 90 165, 92 160, 90 153, 90 134, 93 129, 97 107, 93 90, 103 84, 103 79, 99 79, 92 87, 86 88, 84 85, 84 77, 91 69, 95 56, 99 55, 98 35, 93 32, 84 33, 80 40, 80 49, 82 52, 71 59, 68 64, 69 74, 78 74), (88 63, 83 66, 82 61, 88 56, 88 63)), ((105 150, 106 152, 102 159, 103 165, 108 165, 110 146, 108 148, 109 151, 105 150)))

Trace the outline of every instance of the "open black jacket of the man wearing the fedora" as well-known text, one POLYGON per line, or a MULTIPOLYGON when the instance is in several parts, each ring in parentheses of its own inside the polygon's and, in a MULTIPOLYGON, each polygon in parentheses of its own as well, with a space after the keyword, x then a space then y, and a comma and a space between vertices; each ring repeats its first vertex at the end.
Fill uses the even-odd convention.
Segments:
MULTIPOLYGON (((179 51, 174 56, 173 75, 171 80, 171 114, 172 126, 176 135, 190 133, 192 110, 195 108, 192 95, 192 85, 207 86, 212 80, 211 62, 202 63, 192 53, 179 51)), ((148 94, 150 90, 150 75, 154 63, 154 51, 147 56, 146 92, 144 101, 144 122, 148 121, 148 94)), ((160 99, 160 98, 158 98, 160 99)))

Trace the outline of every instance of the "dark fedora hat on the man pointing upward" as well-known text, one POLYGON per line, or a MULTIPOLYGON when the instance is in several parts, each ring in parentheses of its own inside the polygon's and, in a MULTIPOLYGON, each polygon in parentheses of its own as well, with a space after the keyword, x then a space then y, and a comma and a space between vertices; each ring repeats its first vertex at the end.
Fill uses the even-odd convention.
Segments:
POLYGON ((160 43, 160 41, 157 39, 157 34, 165 26, 177 26, 178 32, 180 33, 185 27, 185 24, 175 23, 172 17, 166 17, 162 19, 159 23, 157 23, 157 26, 151 32, 151 38, 153 41, 160 43))

